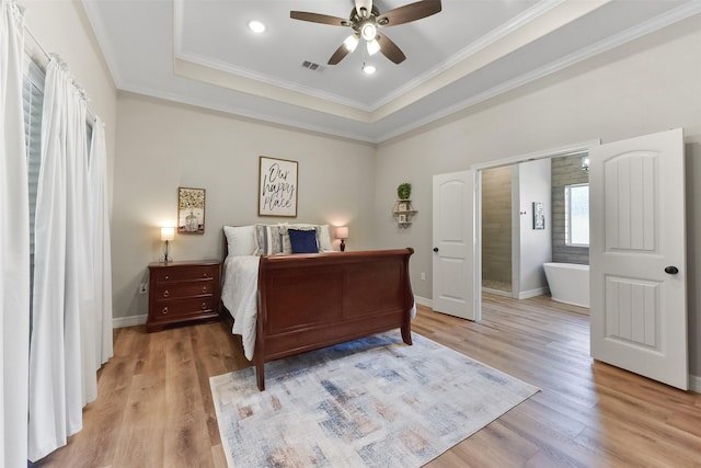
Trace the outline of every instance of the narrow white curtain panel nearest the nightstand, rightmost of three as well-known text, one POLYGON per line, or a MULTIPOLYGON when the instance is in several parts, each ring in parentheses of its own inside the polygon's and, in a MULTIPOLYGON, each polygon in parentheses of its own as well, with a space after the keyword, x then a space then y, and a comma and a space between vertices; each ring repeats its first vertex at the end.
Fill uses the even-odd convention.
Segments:
POLYGON ((110 359, 112 350, 112 250, 110 243, 110 202, 107 191, 107 149, 105 124, 95 118, 90 149, 90 222, 93 241, 95 306, 95 370, 110 359))

